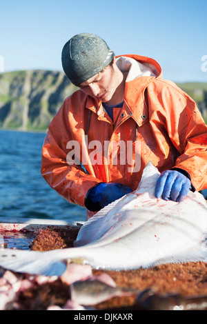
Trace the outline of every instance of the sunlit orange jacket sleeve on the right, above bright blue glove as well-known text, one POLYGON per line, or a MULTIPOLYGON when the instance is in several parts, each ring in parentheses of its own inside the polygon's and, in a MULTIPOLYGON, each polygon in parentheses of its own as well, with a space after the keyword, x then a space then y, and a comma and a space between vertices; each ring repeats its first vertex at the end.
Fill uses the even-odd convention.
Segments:
POLYGON ((195 190, 207 188, 207 126, 188 94, 170 81, 159 95, 168 136, 179 152, 175 168, 190 174, 195 190))

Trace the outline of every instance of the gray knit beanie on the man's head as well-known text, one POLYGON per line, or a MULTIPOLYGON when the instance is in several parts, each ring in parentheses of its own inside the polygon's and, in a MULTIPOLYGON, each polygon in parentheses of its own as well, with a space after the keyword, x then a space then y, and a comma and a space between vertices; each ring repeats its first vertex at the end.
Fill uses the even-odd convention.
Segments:
POLYGON ((72 37, 63 47, 62 65, 70 81, 79 85, 101 72, 115 53, 95 34, 82 33, 72 37))

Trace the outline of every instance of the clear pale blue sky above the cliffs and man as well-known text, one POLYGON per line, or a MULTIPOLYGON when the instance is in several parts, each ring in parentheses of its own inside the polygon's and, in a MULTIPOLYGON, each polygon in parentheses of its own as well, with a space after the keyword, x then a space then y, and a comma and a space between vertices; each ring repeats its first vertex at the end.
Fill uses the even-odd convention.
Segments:
POLYGON ((117 55, 156 59, 164 79, 207 82, 201 70, 207 55, 206 0, 0 0, 0 8, 5 72, 62 70, 66 41, 93 32, 117 55))

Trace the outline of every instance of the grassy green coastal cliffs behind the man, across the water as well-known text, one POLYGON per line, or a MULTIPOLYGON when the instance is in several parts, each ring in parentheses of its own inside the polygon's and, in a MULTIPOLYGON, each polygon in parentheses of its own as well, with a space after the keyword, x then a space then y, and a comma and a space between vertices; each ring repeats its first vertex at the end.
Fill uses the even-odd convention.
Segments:
MULTIPOLYGON (((207 120, 207 83, 179 83, 207 120)), ((75 92, 63 72, 14 71, 0 74, 0 128, 46 131, 64 99, 75 92)))

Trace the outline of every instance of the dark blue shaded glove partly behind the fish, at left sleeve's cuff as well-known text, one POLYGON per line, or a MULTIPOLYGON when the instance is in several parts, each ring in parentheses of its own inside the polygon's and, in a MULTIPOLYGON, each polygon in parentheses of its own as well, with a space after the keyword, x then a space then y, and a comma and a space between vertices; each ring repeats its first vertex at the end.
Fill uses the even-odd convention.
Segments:
POLYGON ((90 188, 86 194, 85 206, 92 212, 97 212, 112 201, 115 201, 133 190, 121 183, 98 183, 90 188))

